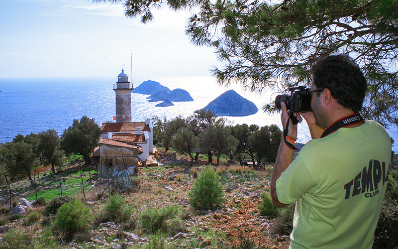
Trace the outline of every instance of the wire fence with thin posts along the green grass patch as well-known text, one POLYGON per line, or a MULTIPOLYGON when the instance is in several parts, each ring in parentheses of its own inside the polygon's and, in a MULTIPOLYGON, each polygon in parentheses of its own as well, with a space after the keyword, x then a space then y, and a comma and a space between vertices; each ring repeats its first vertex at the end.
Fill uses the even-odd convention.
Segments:
POLYGON ((18 197, 30 202, 41 197, 47 202, 56 196, 65 195, 90 199, 93 195, 101 196, 106 191, 110 195, 114 189, 134 188, 127 169, 117 171, 117 167, 100 164, 95 169, 59 171, 40 177, 35 171, 32 180, 11 182, 6 179, 6 185, 0 186, 0 208, 10 208, 12 201, 18 197))

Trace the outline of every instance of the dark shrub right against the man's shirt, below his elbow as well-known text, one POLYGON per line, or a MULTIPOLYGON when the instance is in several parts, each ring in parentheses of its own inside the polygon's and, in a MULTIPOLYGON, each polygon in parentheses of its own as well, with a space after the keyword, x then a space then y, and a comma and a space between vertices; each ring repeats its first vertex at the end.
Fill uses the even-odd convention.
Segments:
POLYGON ((293 231, 293 216, 295 214, 296 203, 283 208, 275 220, 275 224, 271 227, 271 235, 278 234, 280 236, 290 235, 293 231))

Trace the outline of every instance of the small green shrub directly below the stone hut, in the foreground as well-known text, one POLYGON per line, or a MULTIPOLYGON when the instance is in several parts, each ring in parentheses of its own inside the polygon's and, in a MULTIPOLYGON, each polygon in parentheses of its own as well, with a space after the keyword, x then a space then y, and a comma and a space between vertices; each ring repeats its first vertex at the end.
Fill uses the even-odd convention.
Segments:
POLYGON ((116 193, 109 197, 100 215, 96 217, 96 225, 103 222, 122 223, 131 219, 131 209, 126 205, 126 200, 120 194, 116 193))

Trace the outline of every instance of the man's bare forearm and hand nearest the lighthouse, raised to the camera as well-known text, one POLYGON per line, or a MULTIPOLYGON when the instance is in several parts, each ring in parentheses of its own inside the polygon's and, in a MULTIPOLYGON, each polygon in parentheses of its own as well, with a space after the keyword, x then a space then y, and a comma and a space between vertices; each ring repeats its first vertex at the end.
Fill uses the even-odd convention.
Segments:
MULTIPOLYGON (((282 107, 282 114, 281 114, 282 125, 285 129, 285 125, 289 120, 290 124, 289 124, 288 136, 296 138, 297 125, 292 124, 285 103, 282 102, 281 107, 282 107)), ((302 121, 299 115, 297 115, 297 118, 299 122, 302 121)), ((293 158, 293 149, 291 149, 288 145, 286 145, 284 139, 282 139, 281 144, 279 146, 278 155, 275 161, 274 170, 272 171, 271 184, 270 184, 272 203, 277 207, 289 206, 289 204, 284 204, 279 201, 276 190, 276 181, 281 176, 282 172, 284 172, 288 168, 289 164, 292 162, 292 158, 293 158)))

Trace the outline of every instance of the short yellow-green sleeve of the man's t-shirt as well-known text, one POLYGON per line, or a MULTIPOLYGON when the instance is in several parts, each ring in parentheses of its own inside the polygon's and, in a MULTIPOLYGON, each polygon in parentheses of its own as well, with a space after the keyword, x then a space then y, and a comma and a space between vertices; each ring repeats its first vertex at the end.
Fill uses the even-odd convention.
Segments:
POLYGON ((278 200, 284 204, 294 203, 314 186, 316 182, 298 154, 276 182, 278 200))

